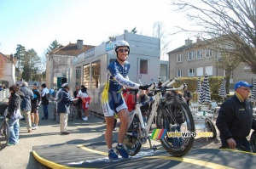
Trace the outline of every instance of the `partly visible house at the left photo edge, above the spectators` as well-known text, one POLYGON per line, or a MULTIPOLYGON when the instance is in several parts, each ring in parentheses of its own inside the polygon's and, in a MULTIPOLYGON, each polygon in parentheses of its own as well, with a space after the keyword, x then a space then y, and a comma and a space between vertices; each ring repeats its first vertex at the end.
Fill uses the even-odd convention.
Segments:
POLYGON ((5 84, 5 87, 10 87, 15 84, 15 64, 16 59, 13 54, 6 55, 0 53, 0 71, 2 72, 0 76, 0 84, 5 84))

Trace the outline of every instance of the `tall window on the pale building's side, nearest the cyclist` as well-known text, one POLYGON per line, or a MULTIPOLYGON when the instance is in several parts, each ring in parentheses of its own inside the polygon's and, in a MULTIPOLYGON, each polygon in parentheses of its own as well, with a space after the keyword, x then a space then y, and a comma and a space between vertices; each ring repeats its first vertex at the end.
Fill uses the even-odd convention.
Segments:
POLYGON ((101 86, 101 60, 91 62, 91 88, 101 86))

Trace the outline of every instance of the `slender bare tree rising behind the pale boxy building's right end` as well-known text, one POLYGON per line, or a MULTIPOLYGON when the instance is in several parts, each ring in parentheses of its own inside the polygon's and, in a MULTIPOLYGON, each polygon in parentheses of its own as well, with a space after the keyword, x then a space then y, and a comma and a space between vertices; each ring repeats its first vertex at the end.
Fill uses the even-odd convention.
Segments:
POLYGON ((160 38, 160 59, 165 59, 171 41, 168 40, 168 35, 164 31, 164 24, 162 22, 154 22, 153 37, 160 38))

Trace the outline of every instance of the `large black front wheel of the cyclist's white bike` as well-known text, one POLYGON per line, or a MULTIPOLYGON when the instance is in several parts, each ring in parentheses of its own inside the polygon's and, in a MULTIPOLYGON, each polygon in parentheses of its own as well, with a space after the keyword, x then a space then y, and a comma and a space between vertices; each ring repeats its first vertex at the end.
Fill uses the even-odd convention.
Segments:
MULTIPOLYGON (((156 123, 158 129, 167 129, 168 132, 178 131, 178 128, 178 132, 195 132, 195 123, 189 106, 178 95, 168 96, 166 103, 159 106, 156 123), (186 124, 186 127, 183 127, 183 124, 186 124)), ((160 139, 160 143, 168 153, 179 157, 189 152, 194 140, 194 137, 168 138, 166 134, 160 139)))

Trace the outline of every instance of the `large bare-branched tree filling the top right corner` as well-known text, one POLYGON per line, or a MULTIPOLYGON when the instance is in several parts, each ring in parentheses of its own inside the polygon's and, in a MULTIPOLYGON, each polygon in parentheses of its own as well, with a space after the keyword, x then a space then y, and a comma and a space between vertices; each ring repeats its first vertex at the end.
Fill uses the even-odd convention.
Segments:
POLYGON ((196 26, 179 27, 180 31, 201 34, 206 42, 215 39, 218 52, 240 60, 256 74, 255 0, 172 0, 172 5, 196 26))

